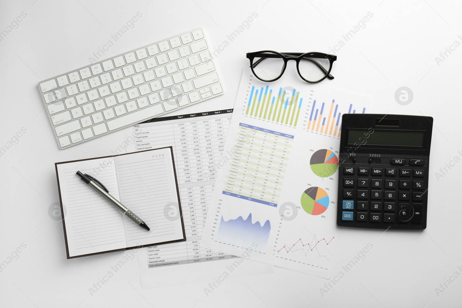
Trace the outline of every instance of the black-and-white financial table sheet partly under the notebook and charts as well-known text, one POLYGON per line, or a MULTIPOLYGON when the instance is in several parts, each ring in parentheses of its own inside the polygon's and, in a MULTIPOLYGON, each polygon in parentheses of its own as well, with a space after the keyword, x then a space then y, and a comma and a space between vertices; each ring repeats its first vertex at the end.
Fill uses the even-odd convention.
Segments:
MULTIPOLYGON (((187 239, 140 249, 143 288, 213 280, 240 258, 241 254, 235 256, 199 246, 231 115, 232 109, 228 109, 154 118, 125 131, 134 139, 127 152, 173 146, 187 239), (158 281, 156 277, 163 271, 168 272, 168 278, 158 281), (185 277, 185 271, 190 275, 185 277)), ((175 206, 166 206, 164 212, 171 219, 178 218, 175 206)), ((273 272, 267 264, 252 260, 246 263, 233 273, 234 277, 273 272)))

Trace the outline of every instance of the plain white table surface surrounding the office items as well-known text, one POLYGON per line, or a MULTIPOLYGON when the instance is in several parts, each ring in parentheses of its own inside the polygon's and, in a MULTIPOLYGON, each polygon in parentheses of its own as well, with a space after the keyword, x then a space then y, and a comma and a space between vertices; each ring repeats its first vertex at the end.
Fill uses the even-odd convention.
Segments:
MULTIPOLYGON (((0 147, 22 127, 27 130, 0 157, 0 262, 21 243, 27 245, 0 272, 1 307, 430 308, 461 304, 462 278, 450 278, 455 272, 462 274, 460 2, 150 2, 28 0, 0 4, 0 31, 21 12, 27 14, 0 42, 0 147), (136 12, 142 18, 104 58, 198 26, 204 28, 210 44, 219 48, 252 12, 258 14, 215 60, 225 94, 181 110, 181 114, 232 107, 242 69, 248 66, 246 52, 329 52, 343 41, 341 48, 335 47, 335 79, 322 83, 373 96, 372 112, 434 118, 427 229, 387 231, 383 236, 381 230, 341 229, 351 241, 339 243, 341 254, 334 256, 339 266, 333 273, 368 242, 374 248, 324 296, 320 288, 327 280, 283 268, 275 268, 272 274, 226 279, 208 297, 204 292, 208 282, 182 285, 179 281, 175 287, 142 289, 137 259, 91 296, 88 289, 123 252, 66 260, 62 224, 48 213, 49 206, 59 201, 54 163, 108 155, 123 140, 123 132, 59 150, 37 83, 88 64, 93 52, 136 12), (368 12, 373 17, 346 41, 342 35, 368 12), (445 48, 452 51, 443 58, 440 52, 445 48), (413 91, 413 101, 407 105, 395 101, 395 91, 401 86, 413 91), (451 163, 455 157, 457 163, 451 163), (437 178, 436 172, 446 163, 454 166, 437 178), (441 288, 445 279, 455 281, 446 283, 448 288, 438 296, 435 288, 441 288)), ((296 74, 294 64, 286 73, 296 74)))

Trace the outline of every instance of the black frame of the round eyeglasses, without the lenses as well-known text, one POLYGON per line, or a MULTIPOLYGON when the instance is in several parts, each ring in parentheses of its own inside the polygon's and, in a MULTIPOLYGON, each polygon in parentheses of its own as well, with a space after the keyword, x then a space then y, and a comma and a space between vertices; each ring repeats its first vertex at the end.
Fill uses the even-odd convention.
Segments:
POLYGON ((307 53, 279 53, 277 51, 274 51, 274 50, 262 50, 262 51, 256 51, 256 52, 249 52, 247 53, 247 58, 250 60, 250 68, 252 69, 252 72, 254 73, 254 76, 258 79, 260 79, 261 81, 265 81, 265 82, 271 82, 271 81, 275 81, 275 80, 278 80, 281 78, 281 76, 284 74, 284 72, 286 71, 286 67, 287 67, 287 62, 289 60, 295 60, 297 62, 297 72, 298 72, 298 75, 300 76, 301 79, 303 79, 304 81, 306 82, 309 82, 309 83, 317 83, 317 82, 320 82, 324 79, 326 79, 326 77, 328 79, 334 79, 334 76, 332 76, 330 74, 330 71, 332 70, 332 64, 334 63, 335 60, 337 60, 337 56, 334 55, 334 54, 324 54, 324 53, 320 53, 320 52, 307 52, 307 53), (267 53, 267 54, 265 54, 267 53), (269 53, 272 53, 272 54, 269 54, 269 53), (261 59, 255 61, 254 63, 254 59, 257 55, 262 55, 262 54, 265 54, 265 55, 268 55, 267 57, 261 57, 261 59), (310 57, 307 57, 307 56, 310 56, 310 57), (329 60, 329 70, 327 71, 323 66, 321 66, 318 62, 316 62, 315 60, 312 60, 311 58, 316 58, 316 56, 322 56, 322 58, 327 58, 329 60), (282 60, 284 60, 284 67, 282 68, 281 70, 281 73, 278 77, 276 77, 275 79, 272 79, 272 80, 264 80, 264 79, 261 79, 257 76, 257 74, 255 74, 254 72, 254 67, 258 65, 258 63, 260 63, 262 60, 266 59, 266 58, 278 58, 280 57, 282 60), (300 60, 309 60, 311 62, 313 62, 314 64, 316 64, 316 66, 318 66, 322 71, 325 72, 325 75, 323 78, 317 80, 317 81, 310 81, 308 79, 305 79, 302 74, 300 73, 300 70, 298 69, 298 63, 300 63, 300 60))

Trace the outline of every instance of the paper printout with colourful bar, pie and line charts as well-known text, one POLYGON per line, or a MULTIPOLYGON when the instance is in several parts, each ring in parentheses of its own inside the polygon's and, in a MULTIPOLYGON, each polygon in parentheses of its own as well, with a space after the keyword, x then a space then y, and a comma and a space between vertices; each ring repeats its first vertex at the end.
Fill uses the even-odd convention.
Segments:
POLYGON ((336 236, 341 115, 371 97, 244 70, 201 245, 327 278, 336 236))

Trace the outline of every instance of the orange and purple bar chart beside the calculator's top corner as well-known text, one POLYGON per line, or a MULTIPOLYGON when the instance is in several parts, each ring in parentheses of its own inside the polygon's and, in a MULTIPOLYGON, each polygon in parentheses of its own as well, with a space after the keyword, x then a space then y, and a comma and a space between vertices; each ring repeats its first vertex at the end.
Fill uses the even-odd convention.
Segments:
MULTIPOLYGON (((355 109, 353 104, 338 104, 335 103, 335 100, 332 100, 330 107, 326 103, 319 103, 316 100, 313 101, 311 106, 311 111, 309 112, 309 119, 306 129, 316 133, 322 133, 330 136, 340 137, 342 125, 341 125, 341 115, 343 114, 341 110, 347 107, 348 111, 343 113, 365 113, 366 108, 355 109), (319 107, 321 105, 321 108, 319 107)), ((346 110, 346 109, 345 109, 346 110)))

